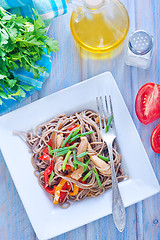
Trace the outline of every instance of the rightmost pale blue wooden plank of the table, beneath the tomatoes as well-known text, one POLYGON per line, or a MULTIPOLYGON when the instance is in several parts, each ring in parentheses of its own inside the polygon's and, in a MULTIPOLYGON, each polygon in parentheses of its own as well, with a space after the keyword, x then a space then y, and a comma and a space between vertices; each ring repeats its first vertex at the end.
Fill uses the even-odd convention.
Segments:
MULTIPOLYGON (((139 86, 143 85, 146 82, 155 82, 159 83, 159 69, 158 69, 158 60, 159 56, 157 52, 159 51, 159 1, 145 1, 145 4, 141 1, 136 1, 136 12, 137 12, 137 28, 142 28, 149 33, 153 33, 155 37, 154 41, 154 53, 153 53, 153 60, 151 63, 151 67, 144 71, 139 71, 138 74, 138 82, 139 86)), ((137 88, 138 89, 138 88, 137 88)), ((155 154, 151 147, 150 147, 150 136, 154 129, 154 127, 159 123, 157 120, 156 122, 142 126, 137 119, 135 118, 136 125, 140 128, 140 135, 145 146, 145 149, 148 153, 150 158, 151 164, 153 169, 160 180, 159 177, 159 156, 155 154)), ((154 197, 148 198, 147 200, 143 201, 143 205, 141 206, 141 219, 142 223, 139 225, 141 227, 141 238, 139 239, 160 239, 160 232, 159 232, 159 219, 160 219, 160 212, 159 212, 159 204, 160 204, 160 194, 155 195, 154 197), (143 227, 142 227, 143 224, 143 227), (143 232, 143 234, 142 234, 143 232), (142 238, 143 237, 143 238, 142 238)), ((137 208, 137 214, 138 214, 137 208)))

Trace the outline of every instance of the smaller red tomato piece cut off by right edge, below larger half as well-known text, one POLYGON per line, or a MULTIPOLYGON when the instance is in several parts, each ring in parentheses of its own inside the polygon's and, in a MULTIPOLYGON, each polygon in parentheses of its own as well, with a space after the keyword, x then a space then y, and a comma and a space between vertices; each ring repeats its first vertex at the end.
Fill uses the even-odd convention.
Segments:
POLYGON ((153 151, 160 154, 160 124, 153 130, 150 140, 153 151))

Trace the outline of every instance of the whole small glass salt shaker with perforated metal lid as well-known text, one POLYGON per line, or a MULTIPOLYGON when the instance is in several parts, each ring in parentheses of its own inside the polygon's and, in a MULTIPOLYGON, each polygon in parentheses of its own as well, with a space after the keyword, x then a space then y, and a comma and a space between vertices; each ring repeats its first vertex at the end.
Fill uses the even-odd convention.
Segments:
POLYGON ((129 66, 147 69, 151 63, 153 37, 147 32, 135 31, 129 38, 125 62, 129 66))

